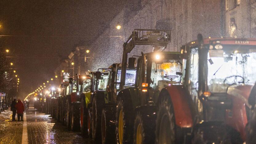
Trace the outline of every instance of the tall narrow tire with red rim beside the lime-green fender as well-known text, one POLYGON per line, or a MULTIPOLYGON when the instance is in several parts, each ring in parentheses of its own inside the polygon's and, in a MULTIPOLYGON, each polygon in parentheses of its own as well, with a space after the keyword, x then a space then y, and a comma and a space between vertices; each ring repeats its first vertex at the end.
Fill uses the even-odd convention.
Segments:
POLYGON ((81 100, 81 106, 80 106, 80 131, 82 136, 88 135, 88 129, 87 129, 87 114, 88 110, 86 109, 86 101, 85 98, 82 98, 81 100))

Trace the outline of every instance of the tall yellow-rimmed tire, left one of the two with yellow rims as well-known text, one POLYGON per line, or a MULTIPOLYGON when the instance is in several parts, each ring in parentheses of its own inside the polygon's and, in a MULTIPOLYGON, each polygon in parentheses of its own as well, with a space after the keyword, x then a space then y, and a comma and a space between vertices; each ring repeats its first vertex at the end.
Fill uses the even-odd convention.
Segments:
POLYGON ((134 110, 128 97, 121 97, 116 110, 116 142, 127 144, 133 142, 134 110))

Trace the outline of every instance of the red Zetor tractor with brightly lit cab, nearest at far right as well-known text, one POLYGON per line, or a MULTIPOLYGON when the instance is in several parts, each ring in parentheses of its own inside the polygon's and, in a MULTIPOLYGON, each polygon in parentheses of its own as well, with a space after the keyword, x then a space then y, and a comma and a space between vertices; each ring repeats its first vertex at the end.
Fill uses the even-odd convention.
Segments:
POLYGON ((182 46, 182 85, 159 94, 156 143, 243 143, 256 81, 255 45, 254 38, 198 34, 182 46))

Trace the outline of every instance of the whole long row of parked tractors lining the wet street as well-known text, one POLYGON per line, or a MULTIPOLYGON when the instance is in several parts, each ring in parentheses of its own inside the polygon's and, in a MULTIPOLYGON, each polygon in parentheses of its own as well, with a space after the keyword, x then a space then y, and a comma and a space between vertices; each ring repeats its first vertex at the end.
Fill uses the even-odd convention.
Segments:
POLYGON ((256 39, 198 34, 164 51, 170 34, 134 30, 122 63, 70 78, 43 111, 103 144, 256 143, 256 39), (128 60, 141 45, 153 52, 128 60))

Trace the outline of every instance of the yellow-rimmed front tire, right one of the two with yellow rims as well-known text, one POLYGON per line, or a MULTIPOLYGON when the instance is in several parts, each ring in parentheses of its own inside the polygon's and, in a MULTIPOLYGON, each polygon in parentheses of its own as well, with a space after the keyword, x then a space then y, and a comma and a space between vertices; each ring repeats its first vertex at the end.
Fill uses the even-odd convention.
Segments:
POLYGON ((134 120, 134 144, 155 143, 155 121, 157 107, 154 105, 141 106, 134 120))

